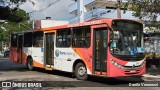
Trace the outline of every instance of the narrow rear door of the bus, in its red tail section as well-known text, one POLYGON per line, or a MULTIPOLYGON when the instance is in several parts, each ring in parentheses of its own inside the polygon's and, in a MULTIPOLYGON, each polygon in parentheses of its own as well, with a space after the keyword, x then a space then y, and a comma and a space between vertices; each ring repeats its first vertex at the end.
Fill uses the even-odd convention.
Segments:
POLYGON ((18 44, 17 44, 17 63, 22 63, 22 46, 23 46, 23 35, 18 35, 18 44))

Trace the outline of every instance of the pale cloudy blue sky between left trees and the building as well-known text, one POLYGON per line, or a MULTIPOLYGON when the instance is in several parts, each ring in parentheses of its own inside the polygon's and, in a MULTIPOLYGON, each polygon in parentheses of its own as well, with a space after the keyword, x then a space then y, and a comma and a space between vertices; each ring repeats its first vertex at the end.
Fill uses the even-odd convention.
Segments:
POLYGON ((45 17, 68 20, 70 17, 68 6, 72 3, 73 0, 27 0, 20 8, 29 13, 31 20, 45 19, 45 17))

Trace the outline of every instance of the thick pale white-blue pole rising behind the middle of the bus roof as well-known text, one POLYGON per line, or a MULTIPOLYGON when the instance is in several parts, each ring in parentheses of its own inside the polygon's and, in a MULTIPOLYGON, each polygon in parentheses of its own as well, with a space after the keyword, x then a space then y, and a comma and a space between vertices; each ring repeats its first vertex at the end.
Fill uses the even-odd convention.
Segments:
POLYGON ((84 21, 84 1, 83 0, 75 0, 77 1, 77 14, 79 18, 79 22, 84 21))

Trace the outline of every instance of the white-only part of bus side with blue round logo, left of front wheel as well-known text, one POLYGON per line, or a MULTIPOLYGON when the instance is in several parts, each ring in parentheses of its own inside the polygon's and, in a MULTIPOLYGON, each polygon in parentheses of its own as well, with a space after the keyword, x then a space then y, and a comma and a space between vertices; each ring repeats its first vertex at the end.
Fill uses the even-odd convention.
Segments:
POLYGON ((62 71, 72 72, 73 63, 80 57, 72 48, 55 48, 54 68, 62 71))

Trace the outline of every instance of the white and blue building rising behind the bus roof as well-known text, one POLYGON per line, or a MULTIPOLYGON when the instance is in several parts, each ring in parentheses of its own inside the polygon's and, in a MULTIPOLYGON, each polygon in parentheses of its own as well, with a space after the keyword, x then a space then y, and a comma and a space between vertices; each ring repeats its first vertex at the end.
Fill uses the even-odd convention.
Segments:
MULTIPOLYGON (((68 12, 71 15, 69 22, 77 23, 79 22, 78 16, 78 2, 72 3, 68 7, 68 12)), ((127 0, 122 0, 126 2, 127 0)), ((84 21, 98 19, 98 18, 117 18, 117 0, 83 0, 84 6, 84 21)), ((138 19, 132 16, 133 11, 121 9, 121 18, 127 19, 138 19)))

